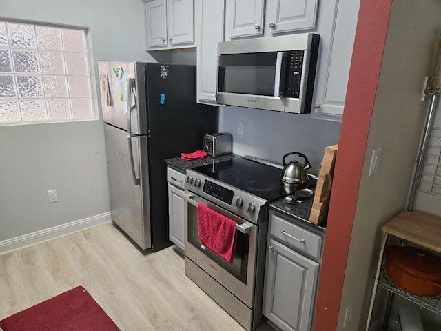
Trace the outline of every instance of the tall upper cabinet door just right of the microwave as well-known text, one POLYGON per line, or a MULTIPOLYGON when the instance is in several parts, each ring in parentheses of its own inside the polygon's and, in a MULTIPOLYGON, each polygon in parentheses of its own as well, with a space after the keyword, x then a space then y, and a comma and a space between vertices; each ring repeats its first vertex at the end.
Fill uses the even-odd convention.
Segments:
MULTIPOLYGON (((329 45, 322 48, 316 74, 314 117, 341 121, 349 68, 355 38, 360 0, 339 0, 334 21, 324 36, 329 45)), ((320 41, 321 42, 321 41, 320 41)))

